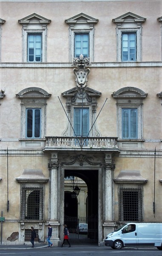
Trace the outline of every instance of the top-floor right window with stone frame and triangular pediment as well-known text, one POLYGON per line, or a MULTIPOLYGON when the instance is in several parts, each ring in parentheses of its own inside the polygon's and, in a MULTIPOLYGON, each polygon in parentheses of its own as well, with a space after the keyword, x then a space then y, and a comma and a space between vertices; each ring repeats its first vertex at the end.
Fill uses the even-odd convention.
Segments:
POLYGON ((142 23, 146 18, 127 12, 116 23, 117 61, 142 61, 142 23))

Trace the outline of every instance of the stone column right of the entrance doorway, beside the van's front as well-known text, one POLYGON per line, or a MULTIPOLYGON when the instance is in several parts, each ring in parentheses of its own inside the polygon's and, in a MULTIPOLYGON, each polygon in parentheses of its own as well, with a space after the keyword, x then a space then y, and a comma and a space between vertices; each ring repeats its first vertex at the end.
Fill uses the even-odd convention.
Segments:
POLYGON ((103 224, 104 227, 104 236, 112 231, 114 231, 115 221, 113 221, 113 211, 114 211, 114 202, 113 202, 113 184, 112 179, 114 172, 115 164, 112 161, 111 154, 105 155, 105 221, 103 224))

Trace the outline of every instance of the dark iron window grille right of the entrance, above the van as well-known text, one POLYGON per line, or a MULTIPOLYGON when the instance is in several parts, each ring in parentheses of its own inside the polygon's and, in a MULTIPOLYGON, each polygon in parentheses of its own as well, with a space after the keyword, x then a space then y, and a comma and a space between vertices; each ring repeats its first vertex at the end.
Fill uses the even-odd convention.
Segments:
POLYGON ((142 221, 141 189, 120 189, 120 221, 142 221))

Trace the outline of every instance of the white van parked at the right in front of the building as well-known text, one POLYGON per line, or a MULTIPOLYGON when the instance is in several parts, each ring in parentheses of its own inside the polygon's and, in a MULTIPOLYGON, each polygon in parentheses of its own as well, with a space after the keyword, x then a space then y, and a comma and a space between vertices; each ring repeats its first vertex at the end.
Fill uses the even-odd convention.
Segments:
POLYGON ((127 223, 108 234, 105 246, 156 246, 162 250, 162 223, 127 223))

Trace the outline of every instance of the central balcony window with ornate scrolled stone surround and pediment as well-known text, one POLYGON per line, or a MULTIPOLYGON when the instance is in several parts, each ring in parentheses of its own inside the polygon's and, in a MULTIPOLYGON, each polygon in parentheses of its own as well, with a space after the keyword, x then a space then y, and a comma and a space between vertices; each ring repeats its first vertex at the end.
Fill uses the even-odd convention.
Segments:
POLYGON ((67 115, 71 121, 67 123, 63 136, 99 137, 95 119, 97 98, 101 93, 89 87, 74 87, 62 95, 67 98, 67 115))

